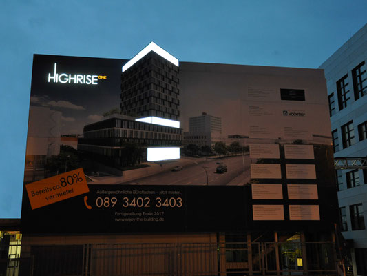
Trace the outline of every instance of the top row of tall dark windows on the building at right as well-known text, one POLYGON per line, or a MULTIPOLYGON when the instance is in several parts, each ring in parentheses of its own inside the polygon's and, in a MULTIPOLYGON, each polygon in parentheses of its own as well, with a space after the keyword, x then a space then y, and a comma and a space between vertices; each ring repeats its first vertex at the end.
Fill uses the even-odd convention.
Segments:
MULTIPOLYGON (((359 63, 357 67, 352 70, 353 92, 354 99, 357 99, 367 95, 367 73, 366 64, 359 63)), ((344 75, 339 81, 337 81, 337 101, 339 111, 346 108, 350 104, 350 86, 348 82, 348 74, 344 75)), ((331 93, 328 96, 328 105, 330 116, 333 116, 337 110, 335 107, 335 95, 331 93)))

